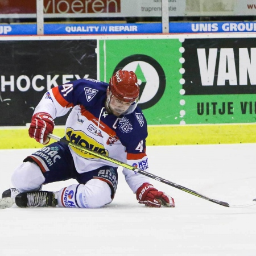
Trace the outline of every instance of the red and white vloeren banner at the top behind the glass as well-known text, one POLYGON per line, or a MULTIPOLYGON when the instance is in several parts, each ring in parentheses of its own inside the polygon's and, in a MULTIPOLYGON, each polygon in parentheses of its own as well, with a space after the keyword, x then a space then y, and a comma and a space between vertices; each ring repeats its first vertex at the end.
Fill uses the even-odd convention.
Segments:
MULTIPOLYGON (((183 15, 186 0, 168 0, 170 16, 183 15)), ((162 16, 161 0, 44 0, 45 18, 162 16)), ((0 1, 0 18, 35 18, 36 0, 0 1)))

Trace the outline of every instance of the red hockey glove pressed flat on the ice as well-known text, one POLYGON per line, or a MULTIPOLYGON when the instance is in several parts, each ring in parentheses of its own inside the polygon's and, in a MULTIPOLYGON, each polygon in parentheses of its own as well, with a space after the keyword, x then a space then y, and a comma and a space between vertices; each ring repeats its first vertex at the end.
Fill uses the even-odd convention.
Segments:
POLYGON ((145 204, 148 207, 175 207, 174 199, 171 196, 158 191, 149 183, 143 183, 137 189, 136 196, 140 204, 145 204))

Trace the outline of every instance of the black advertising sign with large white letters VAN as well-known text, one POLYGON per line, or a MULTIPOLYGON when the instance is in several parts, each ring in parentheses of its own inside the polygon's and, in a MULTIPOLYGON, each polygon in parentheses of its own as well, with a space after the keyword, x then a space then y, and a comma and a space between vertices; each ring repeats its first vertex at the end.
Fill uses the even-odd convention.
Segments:
POLYGON ((255 39, 187 39, 183 47, 186 95, 256 93, 255 39))

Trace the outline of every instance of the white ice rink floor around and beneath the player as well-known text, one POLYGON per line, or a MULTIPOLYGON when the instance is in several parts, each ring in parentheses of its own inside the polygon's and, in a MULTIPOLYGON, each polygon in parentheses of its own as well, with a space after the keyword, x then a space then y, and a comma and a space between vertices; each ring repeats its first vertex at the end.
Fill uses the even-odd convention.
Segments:
MULTIPOLYGON (((35 150, 0 150, 1 193, 35 150)), ((150 170, 229 204, 256 198, 256 144, 147 147, 150 170)), ((76 183, 48 184, 57 191, 76 183)), ((117 194, 100 209, 9 208, 0 211, 0 255, 256 255, 256 205, 226 208, 152 180, 176 208, 146 208, 119 172, 117 194)))

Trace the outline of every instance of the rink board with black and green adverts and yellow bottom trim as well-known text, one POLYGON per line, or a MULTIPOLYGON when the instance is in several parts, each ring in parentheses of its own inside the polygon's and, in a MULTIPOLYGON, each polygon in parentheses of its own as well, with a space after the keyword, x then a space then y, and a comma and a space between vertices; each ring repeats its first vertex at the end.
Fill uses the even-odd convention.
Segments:
MULTIPOLYGON (((108 82, 115 69, 133 70, 142 83, 139 106, 147 119, 148 146, 254 143, 254 38, 249 33, 3 36, 0 43, 13 49, 16 59, 10 60, 9 53, 3 52, 0 148, 42 147, 28 137, 25 124, 31 121, 43 93, 79 77, 108 82), (31 47, 40 49, 46 44, 51 61, 46 54, 29 55, 32 66, 27 65, 25 72, 22 58, 31 47), (83 57, 84 50, 80 51, 85 48, 90 61, 83 57), (53 55, 56 52, 57 56, 53 55), (38 57, 41 61, 36 61, 38 57), (7 65, 7 60, 13 62, 7 65)), ((64 134, 64 123, 65 117, 55 119, 54 134, 64 134)))

